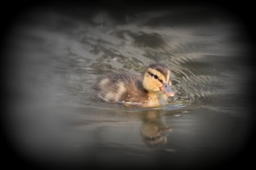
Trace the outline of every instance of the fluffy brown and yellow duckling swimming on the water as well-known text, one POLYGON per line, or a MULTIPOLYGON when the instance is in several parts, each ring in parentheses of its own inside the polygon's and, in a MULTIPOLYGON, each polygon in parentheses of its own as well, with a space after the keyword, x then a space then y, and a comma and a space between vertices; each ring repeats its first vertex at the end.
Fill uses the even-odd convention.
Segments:
POLYGON ((109 75, 100 80, 96 90, 98 97, 110 103, 151 108, 166 105, 167 98, 175 95, 170 86, 170 70, 162 63, 155 63, 147 67, 143 76, 109 75))

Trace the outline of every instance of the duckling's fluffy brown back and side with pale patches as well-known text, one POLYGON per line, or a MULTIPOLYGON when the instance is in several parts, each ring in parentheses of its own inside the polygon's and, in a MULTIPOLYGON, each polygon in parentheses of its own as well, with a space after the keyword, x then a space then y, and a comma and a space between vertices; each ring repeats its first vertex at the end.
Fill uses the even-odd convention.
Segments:
POLYGON ((108 102, 127 105, 143 104, 147 100, 141 76, 113 74, 100 80, 97 85, 98 96, 108 102))

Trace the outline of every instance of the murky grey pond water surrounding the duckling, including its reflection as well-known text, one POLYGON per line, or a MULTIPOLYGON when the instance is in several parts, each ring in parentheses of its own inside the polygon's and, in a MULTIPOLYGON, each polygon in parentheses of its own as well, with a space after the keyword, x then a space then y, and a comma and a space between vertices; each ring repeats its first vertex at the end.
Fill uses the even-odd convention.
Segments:
POLYGON ((5 44, 10 145, 44 165, 228 162, 251 134, 246 37, 239 20, 207 8, 23 12, 5 44), (156 62, 170 68, 176 92, 166 107, 95 96, 102 75, 156 62))

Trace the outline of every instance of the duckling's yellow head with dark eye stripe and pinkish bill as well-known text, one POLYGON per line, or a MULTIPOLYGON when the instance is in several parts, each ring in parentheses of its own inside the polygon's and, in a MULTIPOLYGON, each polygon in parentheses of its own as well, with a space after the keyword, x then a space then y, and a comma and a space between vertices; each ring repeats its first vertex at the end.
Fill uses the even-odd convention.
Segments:
POLYGON ((162 63, 148 66, 143 77, 143 87, 148 92, 164 92, 167 96, 174 96, 171 90, 170 70, 162 63))

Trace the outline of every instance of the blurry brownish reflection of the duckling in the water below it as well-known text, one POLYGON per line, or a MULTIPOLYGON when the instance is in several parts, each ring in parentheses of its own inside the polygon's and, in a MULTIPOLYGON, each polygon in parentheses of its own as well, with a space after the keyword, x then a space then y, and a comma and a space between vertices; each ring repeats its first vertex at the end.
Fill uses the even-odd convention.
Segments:
POLYGON ((148 110, 142 113, 141 135, 143 142, 154 147, 167 143, 167 135, 172 131, 162 119, 162 110, 148 110))

